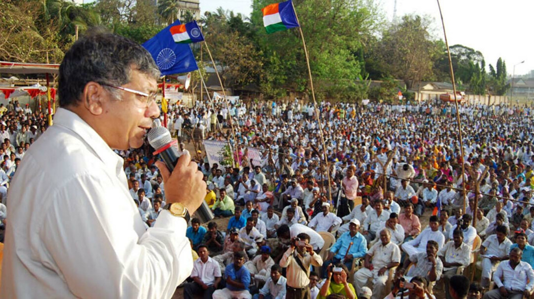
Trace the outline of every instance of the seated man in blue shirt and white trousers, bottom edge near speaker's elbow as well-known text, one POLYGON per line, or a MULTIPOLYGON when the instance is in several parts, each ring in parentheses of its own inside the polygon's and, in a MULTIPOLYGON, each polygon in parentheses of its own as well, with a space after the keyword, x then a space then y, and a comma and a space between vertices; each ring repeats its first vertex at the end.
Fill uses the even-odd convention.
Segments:
POLYGON ((233 264, 227 265, 224 270, 226 287, 224 289, 216 290, 215 293, 213 293, 213 299, 252 299, 252 295, 248 292, 250 272, 243 266, 244 263, 245 253, 241 251, 235 252, 233 264))

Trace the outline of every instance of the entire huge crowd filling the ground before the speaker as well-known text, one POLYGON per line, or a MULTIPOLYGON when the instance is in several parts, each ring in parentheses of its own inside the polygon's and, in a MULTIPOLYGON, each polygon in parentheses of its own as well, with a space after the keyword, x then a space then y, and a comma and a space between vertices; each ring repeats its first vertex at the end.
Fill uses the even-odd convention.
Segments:
MULTIPOLYGON (((459 107, 463 155, 448 103, 171 104, 178 151, 194 143, 206 201, 228 220, 221 227, 193 216, 185 298, 434 298, 437 289, 447 298, 530 296, 532 108, 459 107), (209 163, 197 152, 202 140, 229 141, 235 165, 209 163), (469 285, 474 277, 480 284, 469 285)), ((9 181, 47 124, 16 102, 0 114, 5 225, 9 181)), ((152 151, 117 151, 147 228, 165 205, 152 151)))

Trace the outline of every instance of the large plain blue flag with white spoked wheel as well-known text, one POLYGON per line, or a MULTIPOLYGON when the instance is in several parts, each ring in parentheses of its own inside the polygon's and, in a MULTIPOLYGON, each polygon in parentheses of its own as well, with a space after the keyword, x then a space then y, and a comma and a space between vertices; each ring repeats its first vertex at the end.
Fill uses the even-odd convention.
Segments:
POLYGON ((180 21, 176 20, 143 44, 143 47, 152 55, 162 75, 190 72, 199 68, 191 47, 187 44, 177 44, 172 38, 170 28, 178 25, 180 21))

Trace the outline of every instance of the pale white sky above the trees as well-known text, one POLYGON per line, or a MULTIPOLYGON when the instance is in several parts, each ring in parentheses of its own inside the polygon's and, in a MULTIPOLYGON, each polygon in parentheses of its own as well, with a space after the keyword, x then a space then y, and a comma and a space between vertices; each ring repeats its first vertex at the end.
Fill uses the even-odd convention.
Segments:
MULTIPOLYGON (((391 21, 395 0, 375 1, 391 21)), ((515 75, 534 70, 534 38, 529 33, 532 29, 533 0, 442 0, 440 4, 449 46, 461 44, 480 51, 486 61, 486 70, 489 70, 487 66, 490 63, 495 66, 499 57, 505 60, 509 75, 512 75, 514 64, 517 64, 515 75)), ((252 0, 200 0, 202 14, 221 6, 249 16, 251 5, 252 0)), ((444 39, 436 1, 397 0, 397 17, 410 13, 433 18, 433 34, 444 39)))

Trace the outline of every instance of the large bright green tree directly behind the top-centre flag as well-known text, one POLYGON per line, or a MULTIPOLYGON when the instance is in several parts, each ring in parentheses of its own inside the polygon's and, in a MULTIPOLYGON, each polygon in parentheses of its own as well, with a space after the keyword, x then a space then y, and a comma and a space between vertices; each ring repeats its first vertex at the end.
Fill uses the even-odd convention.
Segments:
MULTIPOLYGON (((298 29, 266 34, 261 9, 273 0, 254 0, 251 14, 254 39, 264 53, 261 90, 278 93, 278 86, 309 91, 309 79, 298 29), (273 86, 274 85, 274 86, 273 86)), ((381 19, 370 0, 295 0, 295 10, 307 43, 310 67, 319 98, 339 97, 364 66, 358 57, 381 19)))

